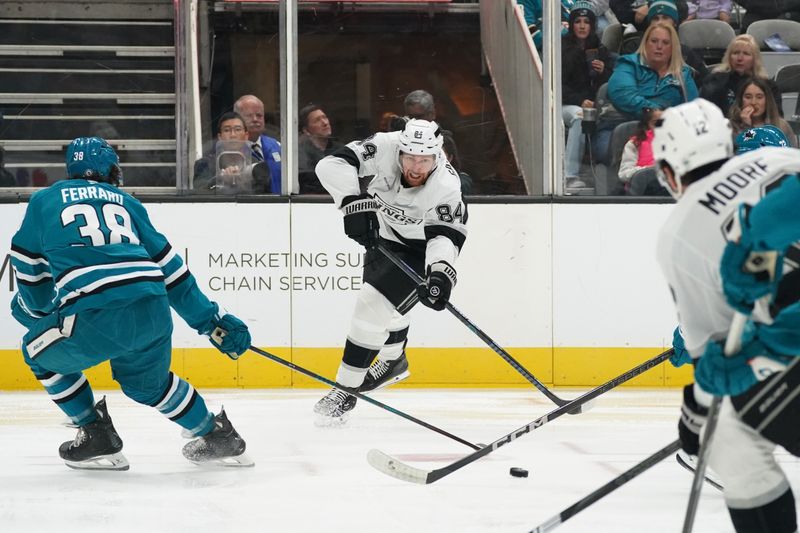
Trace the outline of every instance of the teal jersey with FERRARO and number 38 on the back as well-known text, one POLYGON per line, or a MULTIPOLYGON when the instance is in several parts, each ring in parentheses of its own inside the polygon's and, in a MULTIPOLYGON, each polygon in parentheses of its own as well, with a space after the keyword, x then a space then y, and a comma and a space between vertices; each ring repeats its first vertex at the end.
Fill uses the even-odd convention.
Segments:
POLYGON ((70 315, 169 295, 199 330, 217 310, 144 206, 108 183, 63 180, 33 194, 11 241, 11 261, 18 319, 21 312, 70 315))

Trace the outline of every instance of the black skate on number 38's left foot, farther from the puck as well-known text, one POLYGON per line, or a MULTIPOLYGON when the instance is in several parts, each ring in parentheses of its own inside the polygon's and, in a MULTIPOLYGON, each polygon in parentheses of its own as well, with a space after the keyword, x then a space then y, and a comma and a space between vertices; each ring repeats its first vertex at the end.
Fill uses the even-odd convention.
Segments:
POLYGON ((75 440, 58 448, 58 454, 70 468, 77 470, 128 470, 130 464, 122 453, 122 439, 111 417, 106 398, 94 406, 97 420, 78 428, 75 440))

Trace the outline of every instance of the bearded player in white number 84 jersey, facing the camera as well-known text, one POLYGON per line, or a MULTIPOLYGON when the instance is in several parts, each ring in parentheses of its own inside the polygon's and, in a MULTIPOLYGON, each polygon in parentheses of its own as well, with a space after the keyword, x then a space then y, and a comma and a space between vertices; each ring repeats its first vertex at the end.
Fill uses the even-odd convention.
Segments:
MULTIPOLYGON (((407 313, 417 301, 441 311, 456 284, 467 206, 442 142, 435 122, 412 119, 402 131, 351 142, 317 164, 317 176, 344 215, 345 233, 367 249, 336 374, 341 385, 364 392, 408 377, 407 313), (417 286, 375 249, 379 241, 425 283, 417 286)), ((343 422, 355 404, 354 396, 333 389, 314 412, 318 423, 343 422)))

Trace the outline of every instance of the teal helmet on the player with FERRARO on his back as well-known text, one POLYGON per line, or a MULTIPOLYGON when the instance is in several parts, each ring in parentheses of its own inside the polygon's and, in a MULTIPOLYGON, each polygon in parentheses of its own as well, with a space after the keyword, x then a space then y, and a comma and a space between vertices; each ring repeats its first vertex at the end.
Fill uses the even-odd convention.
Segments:
POLYGON ((122 185, 117 152, 100 137, 78 137, 67 147, 67 178, 122 185))

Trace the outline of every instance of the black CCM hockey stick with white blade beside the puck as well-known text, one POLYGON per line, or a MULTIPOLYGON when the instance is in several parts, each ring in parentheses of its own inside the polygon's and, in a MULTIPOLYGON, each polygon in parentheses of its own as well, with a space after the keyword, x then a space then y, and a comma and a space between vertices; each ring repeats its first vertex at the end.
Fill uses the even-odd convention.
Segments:
POLYGON ((481 448, 480 450, 477 450, 477 451, 475 451, 475 452, 473 452, 473 453, 471 453, 471 454, 469 454, 467 456, 464 456, 464 457, 462 457, 461 459, 459 459, 458 461, 456 461, 454 463, 451 463, 449 465, 443 466, 442 468, 437 468, 435 470, 423 470, 421 468, 416 468, 416 467, 413 467, 413 466, 409 466, 409 465, 403 463, 402 461, 400 461, 399 459, 396 459, 396 458, 392 457, 391 455, 388 455, 386 453, 383 453, 380 450, 375 450, 375 449, 372 449, 372 450, 369 451, 369 453, 367 453, 367 461, 369 462, 369 464, 373 468, 375 468, 377 470, 380 470, 381 472, 383 472, 384 474, 386 474, 388 476, 395 477, 395 478, 400 479, 402 481, 408 481, 410 483, 420 483, 422 485, 429 485, 429 484, 433 483, 434 481, 438 481, 438 480, 442 479, 443 477, 452 474, 456 470, 459 470, 460 468, 462 468, 462 467, 464 467, 464 466, 466 466, 466 465, 468 465, 468 464, 470 464, 472 462, 477 461, 481 457, 483 457, 485 455, 489 455, 490 453, 492 453, 496 449, 500 448, 501 446, 504 446, 504 445, 516 440, 518 437, 520 437, 520 436, 522 436, 522 435, 524 435, 526 433, 530 433, 534 429, 545 425, 547 422, 550 422, 551 420, 555 420, 559 416, 561 416, 561 415, 563 415, 565 413, 568 413, 570 411, 575 410, 575 407, 581 406, 581 405, 585 404, 586 402, 589 402, 589 401, 597 398, 601 394, 610 391, 614 387, 617 387, 618 385, 621 385, 621 384, 625 383, 626 381, 630 380, 631 378, 634 378, 634 377, 638 376, 639 374, 641 374, 641 373, 643 373, 643 372, 645 372, 647 370, 650 370, 654 366, 664 362, 672 354, 673 354, 673 350, 672 350, 672 348, 670 348, 669 350, 663 352, 662 354, 657 355, 653 359, 650 359, 649 361, 646 361, 646 362, 642 363, 641 365, 637 366, 636 368, 628 370, 627 372, 625 372, 621 376, 617 376, 616 378, 612 379, 611 381, 608 381, 608 382, 604 383, 603 385, 600 385, 599 387, 597 387, 595 389, 592 389, 589 392, 587 392, 587 393, 585 393, 585 394, 583 394, 581 396, 578 396, 577 398, 575 398, 571 402, 568 402, 567 404, 562 405, 561 407, 558 407, 558 408, 550 411, 546 415, 540 416, 539 418, 537 418, 536 420, 534 420, 530 424, 522 426, 521 428, 519 428, 519 429, 517 429, 515 431, 512 431, 511 433, 508 433, 507 435, 503 435, 502 437, 500 437, 499 439, 497 439, 493 443, 487 445, 486 447, 481 448))

